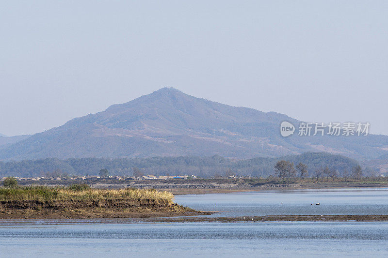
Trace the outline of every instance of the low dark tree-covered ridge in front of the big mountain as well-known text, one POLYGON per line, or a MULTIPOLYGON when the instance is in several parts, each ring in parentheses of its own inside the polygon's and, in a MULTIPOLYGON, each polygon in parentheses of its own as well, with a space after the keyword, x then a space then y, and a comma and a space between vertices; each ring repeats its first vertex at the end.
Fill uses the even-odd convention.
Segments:
POLYGON ((227 159, 221 156, 198 157, 152 157, 152 158, 81 158, 60 160, 47 158, 39 160, 23 160, 19 162, 0 162, 0 177, 43 176, 53 172, 59 176, 67 175, 97 175, 101 168, 109 170, 111 175, 132 175, 133 168, 137 167, 144 174, 152 175, 191 175, 201 177, 225 176, 226 172, 235 175, 268 176, 275 173, 275 163, 281 159, 305 163, 309 174, 314 175, 315 169, 328 166, 339 171, 358 165, 354 159, 342 155, 333 155, 325 152, 307 152, 300 155, 289 155, 278 158, 253 158, 244 160, 227 159))

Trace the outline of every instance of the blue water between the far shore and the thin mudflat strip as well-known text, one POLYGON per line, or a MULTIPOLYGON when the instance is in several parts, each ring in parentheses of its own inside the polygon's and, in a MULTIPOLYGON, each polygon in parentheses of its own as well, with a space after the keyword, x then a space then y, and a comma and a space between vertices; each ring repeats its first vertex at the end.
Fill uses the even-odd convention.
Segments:
POLYGON ((176 196, 175 201, 196 210, 222 212, 212 216, 388 213, 386 188, 183 195, 176 196))

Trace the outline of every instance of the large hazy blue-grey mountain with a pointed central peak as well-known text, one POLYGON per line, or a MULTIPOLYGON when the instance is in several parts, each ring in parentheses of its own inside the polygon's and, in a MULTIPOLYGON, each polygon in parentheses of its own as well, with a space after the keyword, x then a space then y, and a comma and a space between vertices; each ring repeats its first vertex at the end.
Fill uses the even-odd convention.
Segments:
POLYGON ((282 137, 284 114, 228 106, 162 88, 105 111, 75 118, 0 150, 0 160, 47 157, 278 157, 324 151, 356 159, 388 153, 388 136, 282 137))

